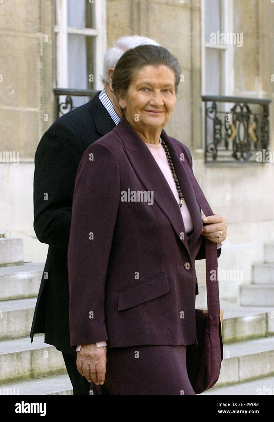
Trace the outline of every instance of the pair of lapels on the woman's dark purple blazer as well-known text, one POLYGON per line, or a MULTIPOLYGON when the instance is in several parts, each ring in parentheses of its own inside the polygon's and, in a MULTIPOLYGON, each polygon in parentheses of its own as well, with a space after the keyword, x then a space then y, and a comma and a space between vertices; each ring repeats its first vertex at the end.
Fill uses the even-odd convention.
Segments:
POLYGON ((194 226, 194 230, 188 239, 186 239, 184 221, 181 216, 180 207, 176 202, 165 176, 145 145, 143 139, 136 133, 125 117, 120 120, 113 130, 122 140, 125 147, 125 154, 138 175, 138 178, 147 191, 153 191, 153 200, 165 213, 191 257, 189 249, 191 249, 192 244, 197 241, 202 231, 200 207, 195 198, 191 181, 189 180, 186 170, 184 169, 172 142, 168 138, 168 135, 162 130, 161 138, 168 145, 177 178, 184 195, 184 200, 189 208, 194 226), (184 233, 184 235, 182 235, 182 233, 184 233))

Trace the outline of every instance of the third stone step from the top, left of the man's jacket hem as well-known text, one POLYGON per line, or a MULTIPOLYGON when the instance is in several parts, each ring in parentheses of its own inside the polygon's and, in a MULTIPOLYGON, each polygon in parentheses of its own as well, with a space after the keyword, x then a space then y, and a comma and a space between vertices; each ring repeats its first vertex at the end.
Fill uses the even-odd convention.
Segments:
POLYGON ((30 298, 0 302, 0 340, 29 335, 36 300, 36 298, 30 298))

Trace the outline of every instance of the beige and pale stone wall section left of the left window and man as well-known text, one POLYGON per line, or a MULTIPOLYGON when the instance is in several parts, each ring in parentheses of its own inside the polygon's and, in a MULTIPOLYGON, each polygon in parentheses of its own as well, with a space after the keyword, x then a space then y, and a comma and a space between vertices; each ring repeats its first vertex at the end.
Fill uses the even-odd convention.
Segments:
POLYGON ((0 3, 0 151, 19 151, 19 165, 0 163, 1 228, 33 236, 34 155, 54 121, 53 5, 52 0, 0 3))

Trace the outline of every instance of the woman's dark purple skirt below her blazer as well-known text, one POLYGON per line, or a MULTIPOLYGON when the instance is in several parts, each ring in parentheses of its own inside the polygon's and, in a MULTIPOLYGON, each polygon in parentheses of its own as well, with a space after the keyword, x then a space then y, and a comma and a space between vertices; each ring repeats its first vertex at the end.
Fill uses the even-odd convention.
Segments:
POLYGON ((186 370, 186 346, 130 346, 106 349, 103 385, 90 394, 195 394, 186 370))

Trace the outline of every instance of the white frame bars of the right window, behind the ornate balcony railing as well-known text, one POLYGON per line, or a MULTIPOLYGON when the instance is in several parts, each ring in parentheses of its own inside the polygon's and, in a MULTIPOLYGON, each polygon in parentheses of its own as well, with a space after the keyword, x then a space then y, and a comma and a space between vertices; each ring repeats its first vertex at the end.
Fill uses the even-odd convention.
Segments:
MULTIPOLYGON (((221 65, 221 80, 223 92, 221 95, 234 95, 234 45, 233 44, 211 44, 205 41, 205 7, 208 0, 201 0, 201 89, 202 95, 210 95, 205 91, 206 82, 206 48, 222 49, 223 61, 221 65)), ((222 32, 234 32, 233 27, 233 6, 231 0, 221 0, 221 24, 222 32)), ((228 110, 231 103, 223 103, 228 110)), ((202 101, 202 145, 205 149, 205 105, 202 101)))

